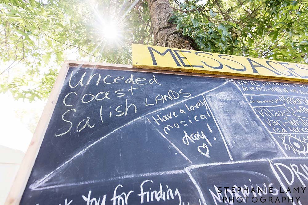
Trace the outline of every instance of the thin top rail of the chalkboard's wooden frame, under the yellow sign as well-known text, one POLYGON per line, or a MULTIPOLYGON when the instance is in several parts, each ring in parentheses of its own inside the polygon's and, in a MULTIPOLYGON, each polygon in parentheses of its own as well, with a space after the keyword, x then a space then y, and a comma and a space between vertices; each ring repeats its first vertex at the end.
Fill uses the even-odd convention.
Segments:
POLYGON ((239 80, 257 80, 257 81, 268 81, 268 82, 282 82, 282 83, 296 83, 296 84, 307 84, 307 82, 286 80, 286 79, 268 79, 268 78, 253 78, 247 76, 233 76, 228 74, 211 74, 211 73, 195 73, 195 72, 184 72, 182 70, 172 70, 172 68, 165 67, 143 67, 143 66, 131 66, 122 64, 111 64, 111 63, 94 63, 86 61, 64 61, 70 66, 79 67, 91 67, 97 69, 111 69, 111 70, 129 70, 129 71, 141 71, 141 72, 154 72, 162 74, 175 74, 175 75, 188 75, 188 76, 202 76, 202 77, 213 77, 213 78, 232 78, 239 80))

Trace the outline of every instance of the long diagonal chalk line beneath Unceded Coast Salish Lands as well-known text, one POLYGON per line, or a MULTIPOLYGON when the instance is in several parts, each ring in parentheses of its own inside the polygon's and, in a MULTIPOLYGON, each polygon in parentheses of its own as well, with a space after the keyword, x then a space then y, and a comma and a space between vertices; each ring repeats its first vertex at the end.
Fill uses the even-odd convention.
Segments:
POLYGON ((123 128, 123 127, 125 127, 125 126, 127 126, 127 125, 129 125, 129 124, 131 124, 131 123, 133 123, 133 122, 135 122, 135 121, 137 121, 137 120, 139 120, 139 119, 142 119, 142 118, 146 117, 147 115, 151 115, 151 114, 153 114, 153 113, 166 110, 166 109, 168 109, 168 108, 170 108, 170 107, 172 107, 172 106, 175 106, 175 105, 177 105, 177 104, 180 104, 180 103, 182 103, 182 102, 186 102, 186 101, 188 101, 188 100, 190 100, 190 99, 197 98, 197 97, 199 97, 199 96, 201 96, 201 95, 203 95, 203 94, 209 93, 209 92, 211 92, 211 91, 213 91, 213 90, 215 90, 215 89, 217 89, 217 88, 219 88, 219 87, 221 87, 221 86, 227 84, 227 83, 230 82, 230 81, 233 81, 233 79, 227 80, 227 81, 225 81, 224 83, 222 83, 221 85, 219 85, 219 86, 217 86, 217 87, 215 87, 215 88, 213 88, 213 89, 207 90, 207 91, 205 91, 205 92, 202 92, 201 94, 198 94, 198 95, 195 95, 195 96, 191 96, 191 97, 185 98, 185 99, 183 99, 183 100, 180 100, 180 101, 178 101, 178 102, 172 103, 172 104, 170 104, 170 105, 168 105, 168 106, 165 106, 165 107, 163 107, 163 108, 159 108, 159 109, 156 109, 156 110, 154 110, 154 111, 148 112, 148 113, 146 113, 146 114, 144 114, 144 115, 141 115, 141 116, 139 116, 139 117, 137 117, 137 118, 135 118, 135 119, 133 119, 133 120, 131 120, 131 121, 125 123, 125 124, 122 125, 121 127, 116 128, 115 130, 109 132, 107 135, 104 135, 103 137, 97 139, 95 142, 91 143, 91 144, 88 145, 87 147, 83 148, 83 149, 82 149, 81 151, 79 151, 77 154, 75 154, 75 155, 72 156, 70 159, 68 159, 66 162, 64 162, 64 163, 61 164, 59 167, 57 167, 54 171, 51 171, 50 173, 48 173, 47 175, 45 175, 42 179, 39 179, 39 180, 35 181, 34 183, 30 184, 29 188, 32 189, 32 190, 34 190, 35 188, 41 186, 43 183, 45 183, 45 182, 47 182, 49 179, 51 179, 51 178, 55 175, 56 171, 60 170, 60 169, 61 169, 62 167, 64 167, 67 163, 70 163, 73 159, 75 159, 77 156, 83 154, 83 153, 84 153, 85 151, 87 151, 90 147, 92 147, 92 146, 95 145, 96 143, 100 142, 101 140, 105 139, 107 136, 111 135, 112 133, 114 133, 114 132, 120 130, 121 128, 123 128))

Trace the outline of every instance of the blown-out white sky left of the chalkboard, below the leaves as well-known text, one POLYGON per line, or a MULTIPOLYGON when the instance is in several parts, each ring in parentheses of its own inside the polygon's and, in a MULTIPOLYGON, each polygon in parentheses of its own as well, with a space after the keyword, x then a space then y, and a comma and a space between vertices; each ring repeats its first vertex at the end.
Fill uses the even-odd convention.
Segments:
MULTIPOLYGON (((64 58, 79 60, 76 51, 76 49, 67 49, 64 53, 64 58)), ((82 60, 87 61, 88 59, 84 58, 82 60)), ((0 61, 0 70, 6 68, 10 63, 0 61)), ((48 67, 50 65, 41 66, 40 69, 42 71, 48 70, 48 67)), ((60 68, 61 66, 59 66, 60 68)), ((24 70, 26 68, 22 64, 13 67, 10 70, 10 78, 8 80, 16 75, 23 74, 24 70)), ((0 145, 26 152, 46 102, 47 99, 38 100, 37 98, 32 102, 29 102, 27 99, 15 100, 9 91, 4 94, 0 93, 0 145)))

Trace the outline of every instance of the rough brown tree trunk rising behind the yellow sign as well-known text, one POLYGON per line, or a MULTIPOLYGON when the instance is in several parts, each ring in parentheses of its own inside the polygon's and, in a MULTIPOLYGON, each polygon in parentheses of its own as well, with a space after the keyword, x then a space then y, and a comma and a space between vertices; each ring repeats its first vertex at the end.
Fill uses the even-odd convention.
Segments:
POLYGON ((172 16, 169 0, 148 0, 148 6, 157 46, 196 50, 193 40, 176 30, 175 24, 168 22, 172 16))

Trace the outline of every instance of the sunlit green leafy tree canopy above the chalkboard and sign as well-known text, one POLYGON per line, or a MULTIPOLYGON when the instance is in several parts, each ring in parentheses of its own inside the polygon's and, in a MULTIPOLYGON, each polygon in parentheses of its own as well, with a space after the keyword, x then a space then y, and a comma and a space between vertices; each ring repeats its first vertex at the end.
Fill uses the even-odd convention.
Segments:
MULTIPOLYGON (((308 61, 308 0, 170 4, 198 50, 308 61)), ((46 98, 63 59, 130 64, 131 43, 155 44, 146 0, 0 0, 0 91, 46 98)))

